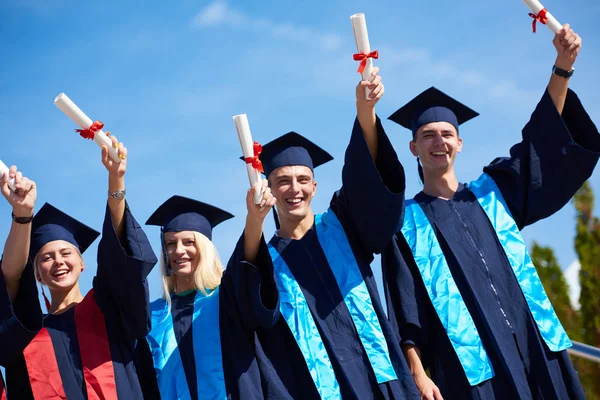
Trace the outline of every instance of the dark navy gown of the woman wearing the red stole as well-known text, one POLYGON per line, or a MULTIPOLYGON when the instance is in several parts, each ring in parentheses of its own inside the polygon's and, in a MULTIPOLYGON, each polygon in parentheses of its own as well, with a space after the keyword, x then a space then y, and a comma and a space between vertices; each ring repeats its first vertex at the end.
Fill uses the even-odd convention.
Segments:
MULTIPOLYGON (((124 223, 123 238, 119 240, 107 207, 93 288, 95 301, 105 319, 117 396, 120 399, 143 399, 134 363, 134 347, 137 340, 144 339, 150 328, 146 276, 157 259, 128 206, 124 223)), ((44 327, 52 339, 66 396, 69 400, 87 399, 74 308, 60 315, 46 315, 44 327)), ((15 358, 7 366, 6 380, 9 400, 33 398, 23 356, 15 358)))

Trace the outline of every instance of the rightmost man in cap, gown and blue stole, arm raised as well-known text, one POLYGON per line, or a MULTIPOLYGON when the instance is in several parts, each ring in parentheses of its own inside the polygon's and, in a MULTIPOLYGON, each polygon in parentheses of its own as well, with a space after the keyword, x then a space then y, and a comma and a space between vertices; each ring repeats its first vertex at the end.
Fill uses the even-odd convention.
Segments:
POLYGON ((554 73, 523 140, 471 183, 459 183, 454 162, 459 125, 476 112, 430 88, 390 117, 412 132, 424 185, 383 253, 384 282, 425 399, 585 397, 520 233, 561 209, 600 156, 598 130, 568 89, 580 44, 568 26, 557 33, 554 73))

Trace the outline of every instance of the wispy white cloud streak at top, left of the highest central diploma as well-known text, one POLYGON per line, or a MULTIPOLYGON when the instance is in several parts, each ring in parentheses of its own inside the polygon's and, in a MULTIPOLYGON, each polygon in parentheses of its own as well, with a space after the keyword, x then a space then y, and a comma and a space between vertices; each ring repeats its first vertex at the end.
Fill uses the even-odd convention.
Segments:
POLYGON ((342 38, 333 33, 320 32, 310 27, 285 22, 275 22, 266 18, 254 18, 231 8, 226 1, 216 0, 204 7, 193 19, 197 28, 209 28, 219 25, 267 32, 275 38, 300 42, 315 46, 323 51, 336 50, 342 45, 342 38))

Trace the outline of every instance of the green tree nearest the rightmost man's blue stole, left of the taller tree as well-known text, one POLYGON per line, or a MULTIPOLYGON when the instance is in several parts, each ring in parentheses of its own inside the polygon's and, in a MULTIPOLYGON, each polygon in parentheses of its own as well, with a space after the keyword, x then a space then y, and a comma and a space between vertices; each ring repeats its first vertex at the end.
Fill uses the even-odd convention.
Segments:
POLYGON ((546 290, 556 315, 567 334, 573 340, 581 340, 579 315, 571 305, 569 285, 560 269, 554 251, 550 247, 540 246, 533 242, 531 260, 536 266, 544 290, 546 290))

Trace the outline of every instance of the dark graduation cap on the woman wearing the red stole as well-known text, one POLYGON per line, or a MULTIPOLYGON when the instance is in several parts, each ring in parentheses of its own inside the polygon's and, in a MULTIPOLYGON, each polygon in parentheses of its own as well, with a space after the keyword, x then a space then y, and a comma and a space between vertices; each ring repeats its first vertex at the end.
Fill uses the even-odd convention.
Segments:
POLYGON ((46 203, 33 218, 29 255, 33 260, 44 245, 55 240, 71 243, 83 254, 100 232, 46 203))

